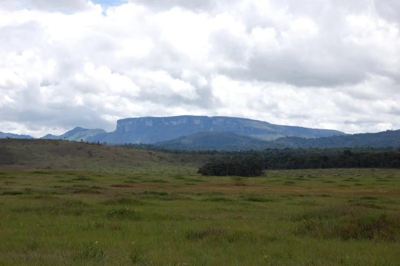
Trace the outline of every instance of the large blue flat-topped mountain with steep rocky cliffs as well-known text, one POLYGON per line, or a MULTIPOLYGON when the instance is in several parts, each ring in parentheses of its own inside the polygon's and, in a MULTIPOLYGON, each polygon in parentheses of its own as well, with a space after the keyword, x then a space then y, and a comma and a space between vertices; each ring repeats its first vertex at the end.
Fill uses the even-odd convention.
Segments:
POLYGON ((242 133, 264 140, 284 136, 314 138, 344 135, 336 130, 279 126, 246 118, 183 115, 121 119, 117 122, 117 129, 101 139, 101 142, 154 143, 180 136, 189 136, 200 131, 242 133))

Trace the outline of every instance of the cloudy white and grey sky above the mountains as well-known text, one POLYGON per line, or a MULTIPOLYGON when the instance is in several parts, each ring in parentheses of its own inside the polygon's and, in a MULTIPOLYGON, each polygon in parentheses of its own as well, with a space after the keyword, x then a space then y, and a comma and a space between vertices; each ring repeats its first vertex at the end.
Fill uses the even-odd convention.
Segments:
POLYGON ((398 0, 0 0, 0 131, 207 115, 400 129, 398 0))

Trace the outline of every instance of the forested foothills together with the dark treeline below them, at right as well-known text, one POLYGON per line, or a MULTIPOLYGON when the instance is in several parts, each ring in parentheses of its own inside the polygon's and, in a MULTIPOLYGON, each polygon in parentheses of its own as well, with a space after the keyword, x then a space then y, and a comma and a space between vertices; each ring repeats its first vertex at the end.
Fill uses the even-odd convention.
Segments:
POLYGON ((285 137, 272 141, 213 133, 155 144, 120 145, 179 154, 209 154, 212 162, 199 168, 208 176, 259 176, 263 170, 309 168, 400 168, 400 130, 323 138, 285 137), (228 137, 218 141, 218 137, 228 137), (233 144, 229 143, 232 139, 233 144), (238 142, 244 139, 244 142, 238 142), (219 149, 221 147, 229 149, 219 149), (208 148, 207 148, 208 147, 208 148), (213 147, 213 149, 210 149, 213 147), (340 148, 342 147, 342 148, 340 148), (343 148, 344 147, 344 148, 343 148))

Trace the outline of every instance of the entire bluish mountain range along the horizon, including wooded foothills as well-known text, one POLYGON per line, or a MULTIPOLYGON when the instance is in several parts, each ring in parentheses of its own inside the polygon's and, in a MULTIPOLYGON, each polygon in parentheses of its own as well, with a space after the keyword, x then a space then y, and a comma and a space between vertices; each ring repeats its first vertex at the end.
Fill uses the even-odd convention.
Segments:
MULTIPOLYGON (((0 138, 6 137, 33 138, 0 132, 0 138)), ((144 143, 142 148, 179 150, 400 146, 400 130, 349 135, 335 130, 281 126, 247 118, 191 115, 126 118, 117 121, 113 132, 77 127, 59 136, 48 134, 42 138, 129 143, 131 146, 144 143)))

